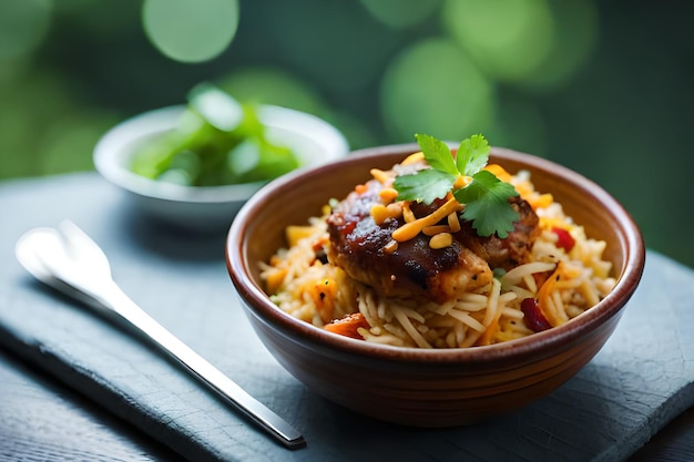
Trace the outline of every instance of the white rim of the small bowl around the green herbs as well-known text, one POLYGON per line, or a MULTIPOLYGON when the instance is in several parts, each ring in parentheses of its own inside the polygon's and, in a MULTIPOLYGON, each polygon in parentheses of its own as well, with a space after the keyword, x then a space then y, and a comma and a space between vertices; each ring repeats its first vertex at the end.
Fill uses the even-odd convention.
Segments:
MULTIPOLYGON (((95 170, 109 182, 123 189, 140 196, 170 202, 246 201, 248 196, 268 183, 268 181, 263 181, 220 186, 183 186, 150 179, 123 166, 120 162, 123 146, 171 130, 185 109, 185 104, 175 104, 145 111, 111 127, 94 146, 92 158, 95 170)), ((273 104, 259 104, 258 117, 268 127, 285 129, 303 134, 319 134, 323 140, 320 144, 325 147, 322 162, 337 160, 349 153, 349 144, 345 135, 329 122, 314 114, 273 104)), ((310 166, 299 168, 307 167, 310 166)))

